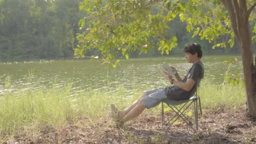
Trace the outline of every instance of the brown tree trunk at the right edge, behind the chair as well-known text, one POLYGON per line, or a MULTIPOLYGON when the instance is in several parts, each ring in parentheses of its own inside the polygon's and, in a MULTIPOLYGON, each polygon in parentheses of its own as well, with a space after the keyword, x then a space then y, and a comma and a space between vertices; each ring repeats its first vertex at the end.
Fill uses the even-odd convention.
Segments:
POLYGON ((237 0, 221 0, 221 2, 229 11, 231 27, 242 54, 248 113, 256 118, 256 66, 253 66, 249 26, 249 15, 256 3, 247 10, 247 0, 239 0, 239 3, 237 0))

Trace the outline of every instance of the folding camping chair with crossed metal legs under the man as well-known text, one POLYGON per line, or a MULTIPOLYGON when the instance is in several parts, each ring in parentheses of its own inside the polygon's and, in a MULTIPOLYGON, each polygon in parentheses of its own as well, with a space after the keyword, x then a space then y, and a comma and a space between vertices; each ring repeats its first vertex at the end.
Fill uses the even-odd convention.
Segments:
MULTIPOLYGON (((197 113, 197 100, 199 101, 199 107, 200 107, 200 113, 202 115, 202 109, 201 109, 201 102, 200 102, 200 97, 196 91, 195 94, 193 94, 189 99, 187 100, 181 100, 181 101, 175 101, 171 100, 168 98, 164 98, 161 100, 162 103, 162 129, 163 125, 165 125, 165 114, 164 114, 164 108, 163 108, 163 103, 167 104, 176 114, 171 117, 171 120, 166 123, 168 125, 172 120, 171 124, 168 126, 168 128, 173 125, 173 123, 178 120, 178 118, 181 118, 184 120, 194 131, 198 131, 198 113, 197 113), (187 116, 184 115, 184 112, 189 108, 189 106, 194 103, 194 110, 195 110, 195 127, 193 127, 190 123, 192 123, 187 116), (178 109, 176 106, 183 104, 183 106, 178 109), (176 117, 177 116, 177 117, 176 117), (176 119, 174 119, 176 117, 176 119)), ((166 128, 165 131, 168 129, 166 128)))

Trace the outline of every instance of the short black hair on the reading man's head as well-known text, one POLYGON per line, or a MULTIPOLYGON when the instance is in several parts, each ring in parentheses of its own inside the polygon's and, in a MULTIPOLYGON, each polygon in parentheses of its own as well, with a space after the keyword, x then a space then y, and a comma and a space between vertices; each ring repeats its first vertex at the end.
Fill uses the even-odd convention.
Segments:
POLYGON ((197 53, 198 58, 202 58, 203 52, 201 50, 201 46, 198 43, 189 43, 186 44, 185 47, 183 48, 183 53, 191 53, 195 54, 197 53))

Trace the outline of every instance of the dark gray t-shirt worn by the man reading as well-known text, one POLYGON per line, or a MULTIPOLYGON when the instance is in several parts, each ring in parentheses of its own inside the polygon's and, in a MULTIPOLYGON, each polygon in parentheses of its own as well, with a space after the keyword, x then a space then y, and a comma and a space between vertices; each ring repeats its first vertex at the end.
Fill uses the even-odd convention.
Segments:
POLYGON ((189 99, 190 96, 192 96, 192 94, 195 93, 197 87, 200 84, 200 81, 203 79, 203 75, 204 75, 204 68, 203 68, 202 61, 199 61, 193 64, 192 67, 189 69, 189 72, 187 73, 187 75, 182 80, 182 82, 186 82, 188 78, 195 80, 195 85, 193 86, 193 88, 190 91, 185 91, 177 87, 176 85, 171 87, 166 87, 165 93, 167 98, 173 99, 176 101, 189 99))

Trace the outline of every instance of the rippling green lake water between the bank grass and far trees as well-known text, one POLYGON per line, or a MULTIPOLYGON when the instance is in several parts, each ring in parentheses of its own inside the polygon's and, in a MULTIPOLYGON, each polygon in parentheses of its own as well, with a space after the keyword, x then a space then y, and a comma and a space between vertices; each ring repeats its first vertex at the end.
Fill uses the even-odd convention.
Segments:
MULTIPOLYGON (((225 60, 238 59, 232 71, 242 72, 241 56, 203 56, 205 77, 220 85, 224 81, 225 60)), ((133 88, 156 88, 168 85, 160 68, 163 62, 176 67, 180 76, 186 74, 192 64, 184 56, 137 58, 122 60, 120 67, 112 68, 98 60, 26 61, 0 63, 0 95, 6 93, 10 83, 13 93, 49 87, 63 88, 72 84, 72 93, 80 91, 114 92, 123 88, 131 93, 133 88)))

